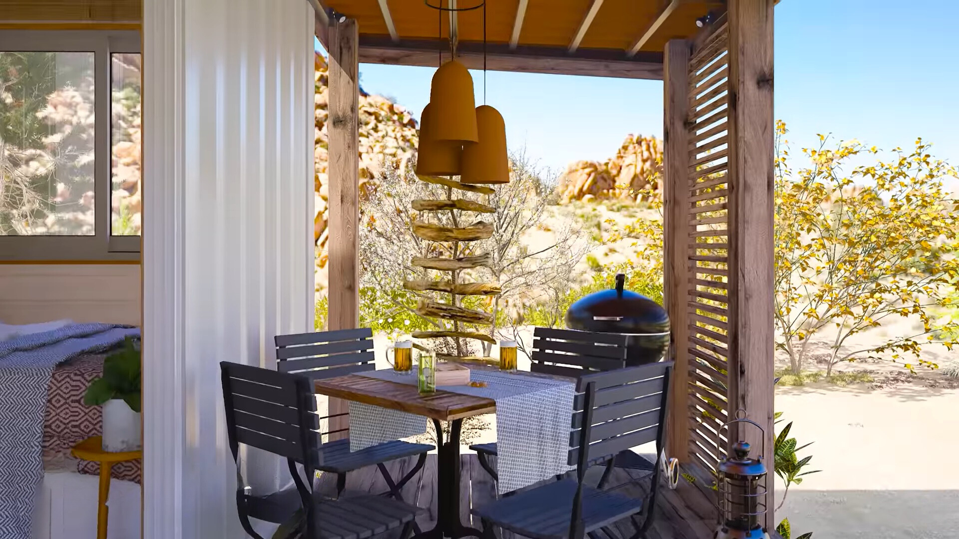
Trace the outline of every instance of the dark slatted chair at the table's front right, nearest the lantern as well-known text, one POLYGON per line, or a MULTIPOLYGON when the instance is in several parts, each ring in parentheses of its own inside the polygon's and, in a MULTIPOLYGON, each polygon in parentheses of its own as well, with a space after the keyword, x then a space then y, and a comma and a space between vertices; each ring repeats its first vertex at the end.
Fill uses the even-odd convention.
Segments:
MULTIPOLYGON (((643 537, 652 524, 659 462, 653 467, 645 500, 593 488, 583 484, 583 479, 592 463, 609 460, 623 450, 651 441, 657 449, 663 446, 671 370, 671 362, 650 363, 581 376, 576 382, 570 434, 569 462, 576 466, 576 477, 548 482, 474 509, 483 522, 485 537, 495 537, 494 526, 498 526, 533 539, 583 539, 638 515, 644 518, 633 539, 643 537)), ((610 529, 605 531, 615 536, 610 529)))

